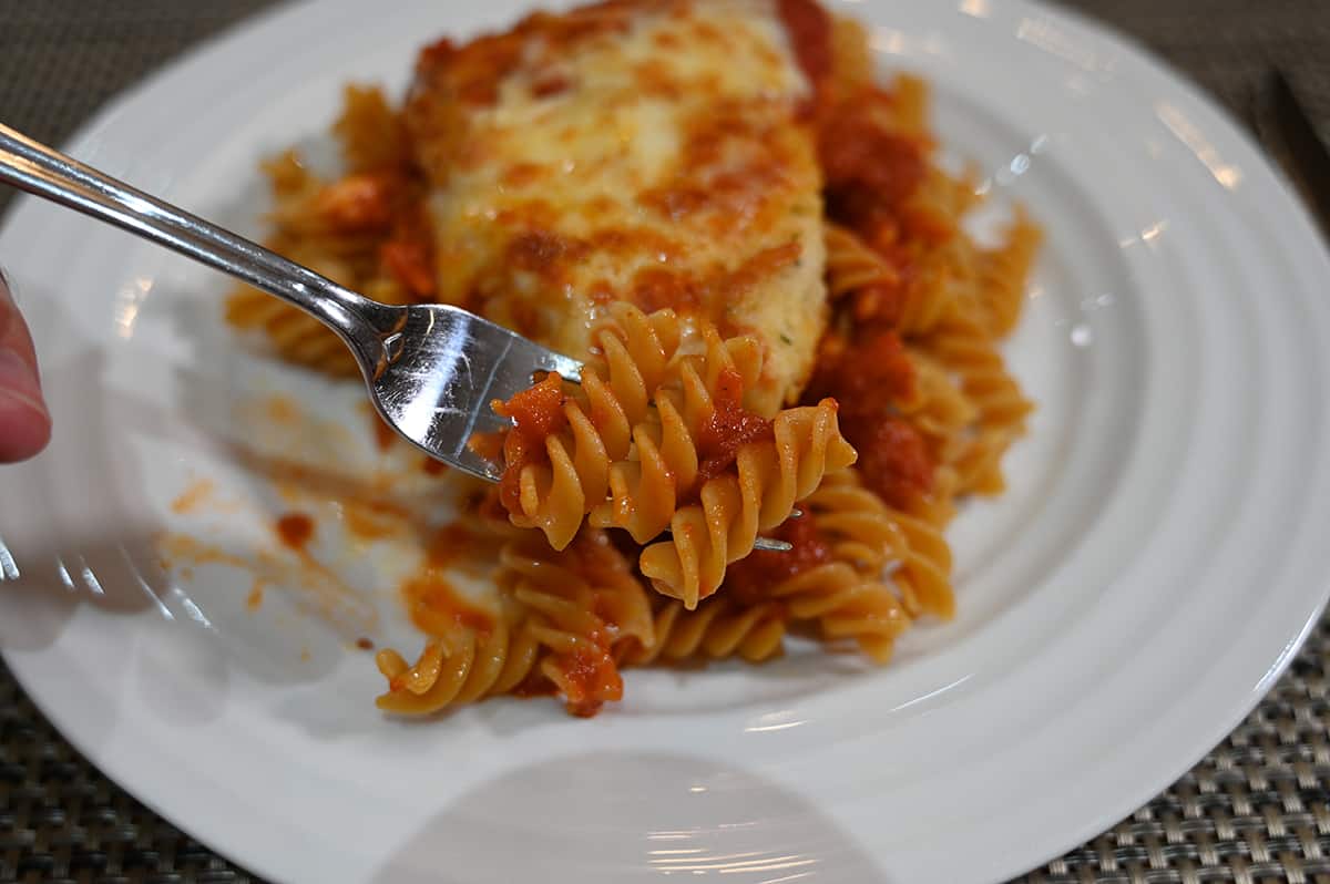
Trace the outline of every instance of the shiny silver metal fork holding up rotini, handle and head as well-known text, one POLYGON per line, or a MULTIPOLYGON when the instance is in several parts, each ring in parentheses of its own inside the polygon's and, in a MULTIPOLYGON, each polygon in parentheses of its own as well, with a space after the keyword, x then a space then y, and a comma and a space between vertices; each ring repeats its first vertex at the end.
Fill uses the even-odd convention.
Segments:
MULTIPOLYGON (((489 408, 539 372, 581 363, 452 304, 384 304, 0 124, 0 181, 166 246, 299 307, 351 348, 370 401, 407 441, 487 481, 503 469, 468 447, 511 425, 489 408)), ((757 549, 790 544, 758 537, 757 549)))

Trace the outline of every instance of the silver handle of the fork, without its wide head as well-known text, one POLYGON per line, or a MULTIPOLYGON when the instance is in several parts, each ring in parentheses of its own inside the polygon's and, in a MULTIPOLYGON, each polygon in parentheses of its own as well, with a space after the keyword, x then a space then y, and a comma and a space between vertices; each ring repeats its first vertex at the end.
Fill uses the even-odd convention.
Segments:
MULTIPOLYGON (((363 346, 378 304, 223 227, 0 124, 0 181, 166 246, 275 295, 363 346)), ((374 335, 375 338, 378 335, 374 335)))

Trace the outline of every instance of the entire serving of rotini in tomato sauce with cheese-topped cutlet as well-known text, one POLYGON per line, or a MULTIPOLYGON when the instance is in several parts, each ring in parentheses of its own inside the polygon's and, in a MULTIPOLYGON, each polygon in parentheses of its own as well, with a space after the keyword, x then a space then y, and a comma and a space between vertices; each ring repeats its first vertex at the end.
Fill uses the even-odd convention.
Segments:
MULTIPOLYGON (((427 641, 380 651, 382 709, 559 694, 585 715, 618 699, 620 667, 755 663, 791 634, 886 662, 952 617, 943 530, 1003 489, 1033 407, 1000 343, 1041 234, 1016 207, 998 245, 970 235, 979 175, 935 162, 927 85, 879 85, 861 25, 817 0, 535 16, 428 47, 400 106, 348 88, 334 133, 340 177, 266 164, 274 249, 585 366, 495 403, 512 428, 476 513, 493 592, 411 602, 427 641), (650 126, 678 157, 617 134, 650 126), (758 536, 793 549, 754 553, 758 536)), ((258 291, 226 318, 355 372, 258 291)))

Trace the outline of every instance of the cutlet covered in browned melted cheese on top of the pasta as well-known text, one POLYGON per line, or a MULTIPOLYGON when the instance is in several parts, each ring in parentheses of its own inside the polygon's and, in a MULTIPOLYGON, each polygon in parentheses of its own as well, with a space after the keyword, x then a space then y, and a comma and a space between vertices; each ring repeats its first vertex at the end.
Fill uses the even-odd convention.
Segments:
POLYGON ((750 407, 793 400, 825 324, 809 93, 770 0, 612 0, 426 51, 408 125, 439 291, 585 358, 604 304, 750 332, 750 407))

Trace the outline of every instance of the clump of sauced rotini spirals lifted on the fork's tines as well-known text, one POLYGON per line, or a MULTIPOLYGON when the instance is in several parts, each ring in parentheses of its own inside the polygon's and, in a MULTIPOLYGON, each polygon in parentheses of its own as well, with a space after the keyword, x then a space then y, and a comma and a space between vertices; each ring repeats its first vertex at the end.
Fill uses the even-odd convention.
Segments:
POLYGON ((555 549, 592 524, 648 542, 642 573, 697 606, 759 530, 779 525, 823 473, 854 463, 834 401, 767 421, 743 409, 761 371, 755 342, 701 332, 705 352, 674 352, 678 320, 617 304, 579 389, 559 378, 497 403, 515 425, 504 440, 504 505, 515 525, 540 528, 555 549), (664 331, 662 330, 668 330, 664 331), (696 495, 696 504, 685 504, 696 495))

